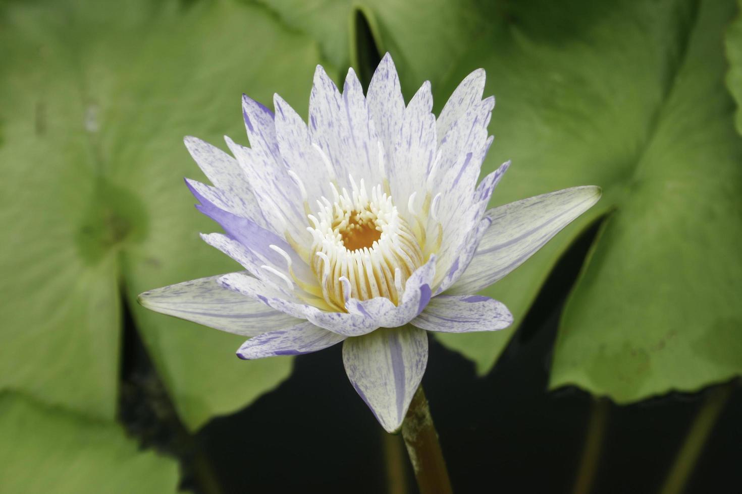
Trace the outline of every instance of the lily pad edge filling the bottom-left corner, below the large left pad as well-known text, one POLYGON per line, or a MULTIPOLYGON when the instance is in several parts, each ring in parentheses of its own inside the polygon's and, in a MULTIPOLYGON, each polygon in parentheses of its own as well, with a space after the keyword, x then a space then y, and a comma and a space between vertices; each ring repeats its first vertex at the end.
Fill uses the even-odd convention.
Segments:
POLYGON ((177 490, 177 462, 141 452, 115 424, 49 410, 0 393, 0 492, 164 494, 177 490))

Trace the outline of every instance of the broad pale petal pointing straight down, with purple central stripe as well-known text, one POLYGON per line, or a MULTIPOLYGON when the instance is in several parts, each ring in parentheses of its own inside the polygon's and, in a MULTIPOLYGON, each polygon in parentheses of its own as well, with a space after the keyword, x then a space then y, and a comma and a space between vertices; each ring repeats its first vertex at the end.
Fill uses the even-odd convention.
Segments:
POLYGON ((343 344, 345 372, 387 432, 401 427, 427 366, 427 334, 413 326, 375 330, 343 344))

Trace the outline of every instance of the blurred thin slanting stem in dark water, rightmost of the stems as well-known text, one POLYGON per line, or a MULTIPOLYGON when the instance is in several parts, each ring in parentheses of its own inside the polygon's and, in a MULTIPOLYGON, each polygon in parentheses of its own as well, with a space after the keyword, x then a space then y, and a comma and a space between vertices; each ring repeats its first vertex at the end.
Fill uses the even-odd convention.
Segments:
POLYGON ((680 494, 695 468, 698 456, 714 429, 716 419, 723 410, 729 395, 732 394, 732 384, 715 387, 708 391, 706 401, 701 405, 695 420, 691 424, 683 446, 677 452, 672 468, 665 479, 660 494, 680 494))

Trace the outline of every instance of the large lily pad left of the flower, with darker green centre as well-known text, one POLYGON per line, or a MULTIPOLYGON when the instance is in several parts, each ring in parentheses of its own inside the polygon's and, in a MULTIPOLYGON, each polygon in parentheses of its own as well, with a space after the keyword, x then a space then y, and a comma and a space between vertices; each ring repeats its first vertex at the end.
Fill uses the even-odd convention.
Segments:
POLYGON ((195 135, 246 142, 241 93, 306 108, 318 48, 231 1, 0 4, 0 387, 112 418, 122 298, 198 427, 275 387, 291 359, 147 313, 137 293, 238 269, 198 238, 195 135))

